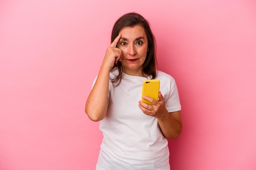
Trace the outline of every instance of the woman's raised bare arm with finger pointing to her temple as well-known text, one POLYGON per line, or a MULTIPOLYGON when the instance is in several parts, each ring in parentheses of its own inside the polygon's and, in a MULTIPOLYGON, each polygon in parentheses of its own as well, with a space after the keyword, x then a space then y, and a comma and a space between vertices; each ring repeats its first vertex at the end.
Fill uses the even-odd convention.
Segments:
POLYGON ((117 63, 117 61, 121 61, 121 50, 119 48, 116 48, 120 37, 121 35, 119 34, 108 47, 103 63, 99 70, 97 80, 92 87, 92 91, 90 92, 85 104, 86 114, 88 115, 90 120, 93 120, 95 122, 105 118, 108 110, 109 98, 108 85, 106 84, 109 83, 109 74, 114 63, 117 63))

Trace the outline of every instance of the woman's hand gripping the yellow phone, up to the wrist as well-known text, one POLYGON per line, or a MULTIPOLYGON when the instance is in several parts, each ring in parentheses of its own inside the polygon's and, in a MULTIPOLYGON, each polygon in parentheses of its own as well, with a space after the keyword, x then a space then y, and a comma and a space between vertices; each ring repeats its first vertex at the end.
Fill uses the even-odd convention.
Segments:
POLYGON ((152 103, 152 106, 151 106, 142 102, 141 100, 139 101, 139 108, 143 111, 144 114, 148 116, 153 116, 156 118, 162 118, 166 116, 166 113, 168 113, 168 111, 165 108, 164 96, 161 94, 161 92, 159 92, 158 101, 148 96, 142 96, 142 97, 152 103))

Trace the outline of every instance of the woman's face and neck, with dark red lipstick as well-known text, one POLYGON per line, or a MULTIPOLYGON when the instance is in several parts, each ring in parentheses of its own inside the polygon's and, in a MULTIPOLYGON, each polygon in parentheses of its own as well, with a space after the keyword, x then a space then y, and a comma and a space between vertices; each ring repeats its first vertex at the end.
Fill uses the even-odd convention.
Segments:
POLYGON ((144 28, 140 25, 125 27, 119 33, 121 38, 117 48, 122 51, 121 63, 124 73, 132 76, 144 76, 142 65, 148 52, 148 38, 144 28))

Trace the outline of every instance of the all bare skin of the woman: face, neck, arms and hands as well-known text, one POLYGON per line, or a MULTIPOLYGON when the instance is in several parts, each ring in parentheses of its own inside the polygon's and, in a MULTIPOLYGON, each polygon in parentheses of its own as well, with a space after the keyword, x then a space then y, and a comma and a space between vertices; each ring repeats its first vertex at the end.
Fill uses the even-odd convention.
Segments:
MULTIPOLYGON (((106 50, 97 80, 86 101, 85 112, 91 120, 100 121, 106 116, 109 98, 108 86, 105 82, 109 81, 110 70, 114 63, 120 61, 126 74, 148 76, 142 72, 142 65, 148 50, 148 39, 143 27, 134 26, 121 29, 119 35, 106 50)), ((148 116, 157 118, 165 137, 177 139, 182 131, 180 111, 168 113, 161 92, 159 92, 158 101, 148 96, 143 96, 143 98, 153 105, 139 101, 141 111, 148 116)))

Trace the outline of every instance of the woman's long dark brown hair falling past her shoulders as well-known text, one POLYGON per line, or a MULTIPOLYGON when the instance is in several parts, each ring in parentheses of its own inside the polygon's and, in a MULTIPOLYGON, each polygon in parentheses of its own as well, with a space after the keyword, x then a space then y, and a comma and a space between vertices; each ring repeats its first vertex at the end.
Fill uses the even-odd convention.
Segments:
MULTIPOLYGON (((114 39, 118 36, 121 29, 137 25, 140 25, 144 28, 148 38, 149 51, 147 52, 146 60, 144 61, 142 66, 142 74, 150 75, 151 79, 154 79, 156 77, 157 65, 155 37, 150 29, 148 21, 144 17, 142 17, 138 13, 127 13, 121 16, 115 22, 114 27, 112 29, 111 42, 113 42, 114 39)), ((119 74, 115 76, 114 79, 112 79, 112 82, 118 82, 117 85, 119 85, 121 82, 121 76, 123 74, 123 67, 121 62, 118 61, 117 63, 115 63, 111 70, 113 70, 116 67, 119 70, 119 74)))

